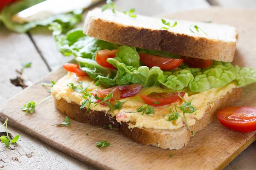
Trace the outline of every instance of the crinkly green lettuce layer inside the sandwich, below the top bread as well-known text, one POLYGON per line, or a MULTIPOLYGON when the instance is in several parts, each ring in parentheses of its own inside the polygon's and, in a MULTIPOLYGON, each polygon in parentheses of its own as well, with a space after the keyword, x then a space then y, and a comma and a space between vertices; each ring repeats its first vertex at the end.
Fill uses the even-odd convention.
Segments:
POLYGON ((256 82, 254 69, 240 68, 229 62, 213 61, 211 66, 203 69, 189 68, 185 64, 170 71, 162 71, 159 67, 148 68, 140 63, 139 53, 170 58, 180 56, 105 42, 84 35, 81 28, 73 29, 66 35, 61 35, 58 27, 52 29, 55 30, 53 35, 60 51, 64 55, 73 54, 81 70, 97 80, 96 85, 102 84, 107 87, 130 84, 142 84, 143 87, 162 85, 177 91, 204 92, 211 88, 223 87, 233 81, 236 81, 240 87, 256 82), (117 48, 116 57, 107 59, 117 70, 104 68, 95 61, 97 51, 117 48))

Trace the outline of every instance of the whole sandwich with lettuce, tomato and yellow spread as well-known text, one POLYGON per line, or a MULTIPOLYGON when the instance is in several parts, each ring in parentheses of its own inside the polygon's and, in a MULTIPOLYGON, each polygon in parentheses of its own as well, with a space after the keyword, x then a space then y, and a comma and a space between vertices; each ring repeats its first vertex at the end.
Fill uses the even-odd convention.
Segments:
POLYGON ((89 11, 83 29, 55 34, 60 51, 77 62, 63 65, 68 73, 51 90, 71 119, 180 149, 256 82, 255 70, 230 63, 238 37, 232 26, 106 8, 89 11))

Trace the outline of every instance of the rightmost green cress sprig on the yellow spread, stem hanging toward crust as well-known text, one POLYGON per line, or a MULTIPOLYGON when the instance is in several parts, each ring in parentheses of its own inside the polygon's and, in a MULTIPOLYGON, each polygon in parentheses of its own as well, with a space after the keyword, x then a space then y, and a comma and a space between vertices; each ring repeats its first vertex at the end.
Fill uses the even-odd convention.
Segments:
POLYGON ((191 134, 193 134, 193 131, 190 129, 189 124, 186 120, 185 117, 185 113, 194 113, 196 111, 195 105, 191 105, 192 100, 194 99, 194 97, 189 101, 186 102, 185 99, 183 99, 183 97, 181 97, 180 95, 178 95, 180 97, 180 99, 183 100, 183 104, 179 106, 174 105, 175 107, 175 111, 172 108, 169 108, 171 113, 168 114, 168 121, 172 121, 172 120, 177 120, 179 118, 179 113, 177 112, 177 108, 180 109, 183 112, 183 116, 180 116, 181 119, 183 119, 186 127, 190 130, 191 134))

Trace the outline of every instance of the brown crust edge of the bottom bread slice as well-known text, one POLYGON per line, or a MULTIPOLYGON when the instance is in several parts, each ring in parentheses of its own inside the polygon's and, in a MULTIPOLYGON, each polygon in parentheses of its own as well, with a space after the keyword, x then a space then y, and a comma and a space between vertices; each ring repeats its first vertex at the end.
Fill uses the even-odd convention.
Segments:
MULTIPOLYGON (((236 102, 241 97, 241 92, 241 88, 234 88, 231 92, 222 96, 218 100, 215 100, 213 103, 209 103, 213 105, 213 107, 211 108, 208 104, 208 108, 202 119, 196 121, 195 125, 190 127, 194 134, 211 123, 216 118, 218 111, 236 102)), ((188 144, 191 136, 191 133, 186 126, 177 130, 157 130, 138 127, 129 128, 129 122, 119 123, 116 121, 115 116, 113 117, 108 113, 92 110, 85 113, 85 108, 80 110, 80 105, 74 102, 68 103, 62 98, 60 100, 54 99, 54 102, 56 108, 73 120, 101 127, 103 125, 111 124, 114 130, 118 130, 124 136, 127 136, 135 142, 146 145, 151 144, 163 149, 180 149, 188 144)), ((109 128, 109 126, 105 127, 105 129, 109 128)))

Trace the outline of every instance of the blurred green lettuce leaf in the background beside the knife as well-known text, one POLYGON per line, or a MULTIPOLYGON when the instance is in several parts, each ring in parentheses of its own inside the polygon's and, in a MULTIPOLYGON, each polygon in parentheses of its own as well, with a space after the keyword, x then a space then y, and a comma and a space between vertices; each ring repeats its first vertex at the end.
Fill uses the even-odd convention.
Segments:
POLYGON ((82 9, 67 13, 58 14, 51 17, 47 17, 43 20, 36 20, 29 23, 19 24, 12 21, 12 16, 26 8, 34 6, 35 4, 41 3, 44 0, 20 0, 10 4, 0 11, 0 21, 10 30, 18 33, 24 33, 31 28, 36 26, 48 26, 52 22, 58 22, 61 24, 63 31, 68 31, 75 27, 75 25, 81 21, 82 9))

